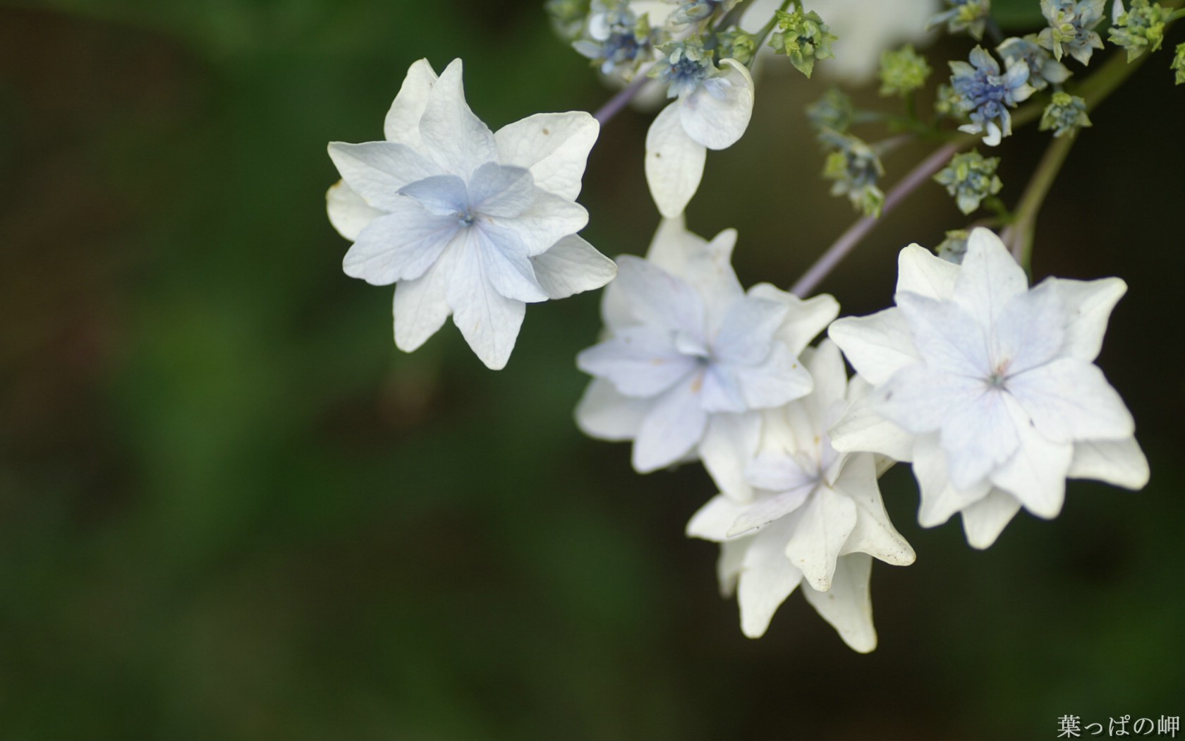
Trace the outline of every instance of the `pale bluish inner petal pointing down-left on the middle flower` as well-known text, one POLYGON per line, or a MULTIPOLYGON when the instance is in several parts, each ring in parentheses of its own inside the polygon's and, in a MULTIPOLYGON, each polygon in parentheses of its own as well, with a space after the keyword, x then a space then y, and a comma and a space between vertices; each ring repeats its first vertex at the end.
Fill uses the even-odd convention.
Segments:
POLYGON ((678 462, 704 436, 707 413, 699 403, 699 377, 666 391, 642 419, 634 440, 634 469, 649 473, 678 462))

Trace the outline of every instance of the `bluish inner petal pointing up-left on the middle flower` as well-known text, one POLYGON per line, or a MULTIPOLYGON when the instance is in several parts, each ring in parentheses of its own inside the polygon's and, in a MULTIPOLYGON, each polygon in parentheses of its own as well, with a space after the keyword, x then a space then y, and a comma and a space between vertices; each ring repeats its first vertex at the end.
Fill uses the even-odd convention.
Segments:
POLYGON ((622 255, 613 285, 635 321, 671 332, 703 331, 703 301, 691 286, 666 270, 633 255, 622 255))

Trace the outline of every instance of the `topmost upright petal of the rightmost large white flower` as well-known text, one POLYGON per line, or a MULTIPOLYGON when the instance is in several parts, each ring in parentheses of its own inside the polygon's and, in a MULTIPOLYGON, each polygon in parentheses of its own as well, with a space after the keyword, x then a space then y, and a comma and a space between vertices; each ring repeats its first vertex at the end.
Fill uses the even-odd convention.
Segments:
POLYGON ((978 321, 992 326, 1005 304, 1027 289, 1029 279, 1004 242, 982 226, 973 229, 955 280, 954 300, 978 321))

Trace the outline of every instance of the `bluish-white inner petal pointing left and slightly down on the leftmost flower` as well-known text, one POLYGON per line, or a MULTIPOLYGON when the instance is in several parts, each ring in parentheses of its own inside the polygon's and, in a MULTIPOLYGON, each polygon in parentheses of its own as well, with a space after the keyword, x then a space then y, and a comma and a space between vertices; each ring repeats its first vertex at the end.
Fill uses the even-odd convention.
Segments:
POLYGON ((453 216, 434 216, 416 200, 403 198, 385 216, 358 234, 346 253, 342 269, 372 286, 415 280, 436 262, 454 239, 465 234, 453 216))

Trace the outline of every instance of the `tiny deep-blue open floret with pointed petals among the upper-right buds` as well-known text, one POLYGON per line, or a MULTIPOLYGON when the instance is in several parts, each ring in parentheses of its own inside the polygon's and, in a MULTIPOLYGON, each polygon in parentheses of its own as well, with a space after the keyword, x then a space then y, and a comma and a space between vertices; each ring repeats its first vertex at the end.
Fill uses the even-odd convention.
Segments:
POLYGON ((959 97, 959 108, 967 114, 971 123, 959 127, 968 134, 984 134, 984 143, 994 147, 1003 136, 1012 135, 1012 114, 1016 108, 1032 95, 1027 84, 1029 65, 1017 59, 1006 62, 1004 75, 1000 65, 982 46, 971 51, 971 64, 967 62, 950 63, 950 87, 959 97))

